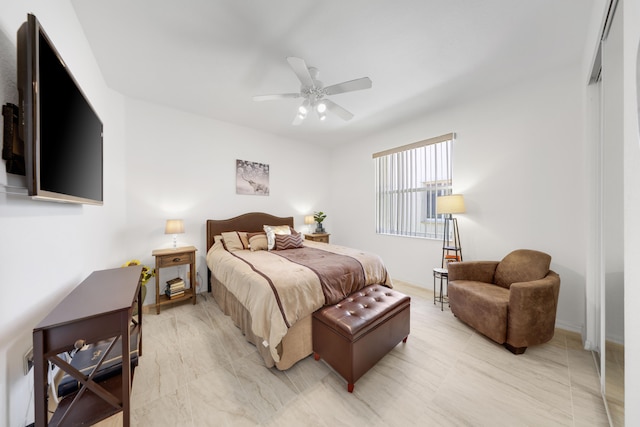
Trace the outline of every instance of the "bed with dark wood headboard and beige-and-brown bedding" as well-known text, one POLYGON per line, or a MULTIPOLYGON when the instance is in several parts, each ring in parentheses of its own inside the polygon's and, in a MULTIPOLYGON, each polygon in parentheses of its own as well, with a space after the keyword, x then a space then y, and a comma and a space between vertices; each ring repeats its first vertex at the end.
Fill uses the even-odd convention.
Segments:
MULTIPOLYGON (((265 225, 293 230, 293 217, 254 212, 207 220, 209 290, 222 311, 256 346, 265 365, 286 370, 313 352, 314 311, 367 285, 392 284, 375 254, 311 241, 304 241, 300 249, 276 250, 286 248, 279 246, 252 251, 246 249, 247 239, 235 239, 234 235, 251 236, 255 243, 260 237, 253 233, 262 233, 265 225), (234 247, 230 244, 233 239, 241 243, 234 247), (335 276, 339 277, 327 276, 326 266, 338 270, 335 276)), ((289 237, 276 238, 282 242, 289 237)), ((299 237, 293 231, 290 240, 296 239, 299 237)))

